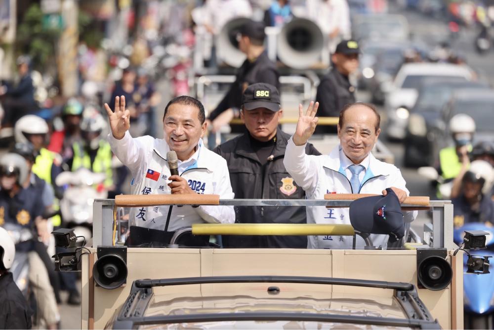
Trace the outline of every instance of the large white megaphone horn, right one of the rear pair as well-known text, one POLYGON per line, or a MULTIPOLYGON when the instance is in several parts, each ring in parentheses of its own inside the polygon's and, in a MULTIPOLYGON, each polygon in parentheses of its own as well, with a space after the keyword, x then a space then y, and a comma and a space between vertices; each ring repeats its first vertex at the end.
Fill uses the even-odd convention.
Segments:
POLYGON ((316 23, 294 18, 278 36, 278 58, 294 69, 307 69, 321 60, 323 32, 316 23))

